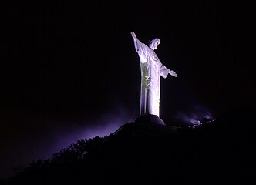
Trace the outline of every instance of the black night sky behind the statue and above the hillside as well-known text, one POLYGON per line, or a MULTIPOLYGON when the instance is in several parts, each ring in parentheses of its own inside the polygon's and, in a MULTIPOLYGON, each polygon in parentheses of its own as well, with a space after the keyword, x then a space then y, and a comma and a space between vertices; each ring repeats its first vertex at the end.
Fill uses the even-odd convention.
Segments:
POLYGON ((1 2, 0 177, 139 116, 141 42, 178 78, 161 79, 160 117, 252 108, 252 5, 191 1, 1 2))

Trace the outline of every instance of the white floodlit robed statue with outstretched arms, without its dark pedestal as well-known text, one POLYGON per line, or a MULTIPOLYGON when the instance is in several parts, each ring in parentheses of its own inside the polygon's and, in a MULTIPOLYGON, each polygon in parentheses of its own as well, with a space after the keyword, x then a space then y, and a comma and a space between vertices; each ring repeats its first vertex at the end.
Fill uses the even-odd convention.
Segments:
POLYGON ((140 116, 152 114, 159 116, 160 107, 160 76, 166 78, 168 74, 177 77, 176 72, 167 69, 160 62, 153 51, 160 44, 160 39, 151 40, 149 46, 140 42, 134 32, 133 37, 136 52, 140 57, 141 89, 140 89, 140 116))

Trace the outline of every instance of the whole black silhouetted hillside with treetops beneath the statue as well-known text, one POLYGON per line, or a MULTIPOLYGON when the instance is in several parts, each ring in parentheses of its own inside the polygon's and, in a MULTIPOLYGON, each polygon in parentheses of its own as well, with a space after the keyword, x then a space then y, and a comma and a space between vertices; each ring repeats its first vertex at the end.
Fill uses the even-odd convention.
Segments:
POLYGON ((119 134, 78 140, 37 160, 5 184, 255 184, 253 116, 234 111, 171 134, 128 123, 119 134))

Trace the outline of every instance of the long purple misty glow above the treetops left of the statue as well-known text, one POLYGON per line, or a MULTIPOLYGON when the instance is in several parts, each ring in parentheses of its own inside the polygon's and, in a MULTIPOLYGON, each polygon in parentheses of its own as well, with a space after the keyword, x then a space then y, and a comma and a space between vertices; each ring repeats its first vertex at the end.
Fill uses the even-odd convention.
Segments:
POLYGON ((88 119, 88 117, 85 115, 83 119, 78 119, 79 121, 34 119, 32 123, 42 125, 36 135, 29 133, 30 130, 24 130, 22 134, 27 136, 26 139, 19 139, 24 137, 22 134, 17 140, 11 140, 13 136, 10 136, 9 146, 5 146, 3 151, 5 157, 1 159, 5 167, 3 177, 12 175, 12 167, 27 167, 32 161, 49 159, 53 153, 76 143, 77 140, 109 136, 123 124, 134 121, 136 113, 120 108, 96 119, 88 119), (7 158, 12 158, 12 161, 7 158))

